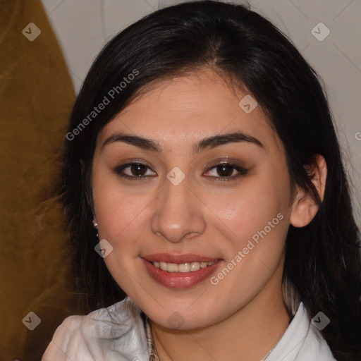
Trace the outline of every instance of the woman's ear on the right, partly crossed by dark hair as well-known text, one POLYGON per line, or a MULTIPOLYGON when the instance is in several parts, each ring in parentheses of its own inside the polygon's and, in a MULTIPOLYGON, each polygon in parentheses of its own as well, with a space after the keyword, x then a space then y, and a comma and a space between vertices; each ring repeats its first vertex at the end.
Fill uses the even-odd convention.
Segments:
MULTIPOLYGON (((319 197, 324 200, 324 190, 327 178, 327 165, 324 157, 315 154, 314 163, 307 171, 312 183, 314 184, 319 197)), ((316 216, 319 207, 310 195, 306 195, 305 190, 298 186, 298 190, 293 201, 292 211, 290 214, 290 224, 295 227, 304 227, 310 224, 314 216, 316 216)))

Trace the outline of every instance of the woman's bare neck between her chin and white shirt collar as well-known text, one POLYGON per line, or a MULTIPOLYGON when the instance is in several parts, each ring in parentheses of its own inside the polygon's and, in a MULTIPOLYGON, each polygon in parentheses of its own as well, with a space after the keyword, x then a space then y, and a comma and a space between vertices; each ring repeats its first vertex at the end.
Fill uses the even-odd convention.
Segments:
POLYGON ((166 329, 149 321, 161 361, 263 360, 290 322, 281 281, 274 274, 266 286, 227 319, 203 329, 166 329))

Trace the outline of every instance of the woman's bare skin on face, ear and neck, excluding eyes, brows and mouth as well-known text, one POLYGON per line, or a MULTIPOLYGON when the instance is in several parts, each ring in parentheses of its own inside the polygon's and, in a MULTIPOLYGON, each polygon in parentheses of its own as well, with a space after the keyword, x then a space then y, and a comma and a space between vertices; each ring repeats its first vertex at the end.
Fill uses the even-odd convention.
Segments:
MULTIPOLYGON (((260 360, 290 320, 281 293, 286 233, 290 224, 310 223, 318 208, 299 188, 291 197, 283 145, 260 106, 250 114, 238 106, 245 94, 204 68, 161 82, 97 137, 94 222, 99 239, 114 247, 104 261, 151 320, 161 361, 260 360), (257 138, 264 148, 232 142, 192 153, 203 137, 235 131, 257 138), (120 132, 157 141, 162 152, 125 142, 102 147, 120 132), (223 173, 212 167, 226 158, 247 173, 219 181, 223 173), (144 171, 149 178, 131 181, 114 172, 134 160, 149 166, 144 171), (175 166, 185 174, 179 185, 166 178, 175 166), (167 288, 154 281, 141 262, 142 255, 159 252, 221 258, 224 262, 214 276, 277 214, 283 215, 279 224, 216 286, 208 278, 190 288, 167 288), (178 326, 168 322, 174 312, 181 315, 178 326)), ((137 176, 130 167, 123 173, 137 176)), ((239 173, 231 169, 229 174, 239 173)), ((325 180, 326 164, 319 156, 312 181, 321 197, 325 180)))

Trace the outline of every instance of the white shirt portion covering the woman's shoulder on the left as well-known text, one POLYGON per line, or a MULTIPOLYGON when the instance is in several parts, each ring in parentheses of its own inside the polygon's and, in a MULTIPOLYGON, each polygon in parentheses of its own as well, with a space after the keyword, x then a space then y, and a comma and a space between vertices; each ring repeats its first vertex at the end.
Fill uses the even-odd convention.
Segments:
POLYGON ((56 329, 42 361, 148 360, 140 312, 126 298, 85 316, 67 317, 56 329))

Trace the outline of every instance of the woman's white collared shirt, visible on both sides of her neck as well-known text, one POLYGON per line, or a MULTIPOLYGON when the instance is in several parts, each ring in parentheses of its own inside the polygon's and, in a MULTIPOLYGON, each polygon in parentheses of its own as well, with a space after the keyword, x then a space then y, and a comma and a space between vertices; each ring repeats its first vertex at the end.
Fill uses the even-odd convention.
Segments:
MULTIPOLYGON (((86 316, 70 316, 56 329, 42 361, 149 361, 141 310, 127 297, 86 316)), ((302 302, 264 361, 336 361, 302 302)))

